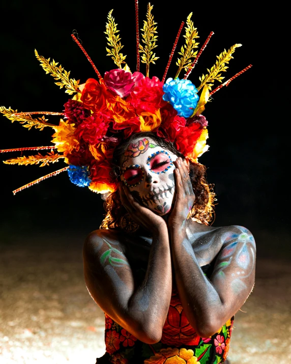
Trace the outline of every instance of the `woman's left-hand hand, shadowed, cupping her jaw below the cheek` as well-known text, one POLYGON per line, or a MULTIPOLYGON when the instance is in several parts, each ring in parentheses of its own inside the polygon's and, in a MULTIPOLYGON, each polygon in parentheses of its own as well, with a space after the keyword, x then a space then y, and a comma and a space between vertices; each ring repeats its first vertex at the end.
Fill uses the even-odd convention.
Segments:
POLYGON ((165 220, 147 207, 140 205, 131 195, 129 188, 122 183, 120 185, 120 197, 131 218, 145 230, 151 232, 152 235, 167 229, 165 220))

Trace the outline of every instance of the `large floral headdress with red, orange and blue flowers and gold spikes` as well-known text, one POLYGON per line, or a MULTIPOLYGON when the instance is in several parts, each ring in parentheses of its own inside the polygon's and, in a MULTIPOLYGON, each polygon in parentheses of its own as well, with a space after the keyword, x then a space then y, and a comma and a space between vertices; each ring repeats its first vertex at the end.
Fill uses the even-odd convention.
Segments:
MULTIPOLYGON (((235 49, 241 46, 235 44, 219 54, 215 65, 207 70, 207 74, 199 77, 200 85, 195 87, 188 80, 188 76, 214 33, 210 33, 198 52, 196 50, 199 44, 196 42, 198 33, 191 20, 191 13, 186 21, 184 35, 186 42, 179 52, 176 76, 165 81, 184 22, 174 42, 162 81, 156 76, 150 78, 150 65, 158 59, 154 53, 158 38, 157 23, 154 21, 152 9, 153 6, 148 4, 146 20, 143 21, 141 30, 142 44, 140 44, 138 1, 135 0, 137 68, 134 73, 131 73, 125 63, 126 55, 121 53, 123 45, 117 24, 112 17, 112 10, 108 14, 106 23, 105 34, 108 42, 106 51, 118 68, 105 72, 104 77, 73 34, 74 41, 92 64, 98 80, 89 78, 84 84, 79 85, 79 81, 70 78, 70 72, 65 71, 61 65, 54 60, 45 59, 35 51, 42 68, 57 80, 56 85, 65 88, 66 93, 74 96, 65 103, 63 113, 49 111, 18 113, 10 107, 1 106, 1 113, 12 122, 18 121, 28 129, 35 127, 43 130, 45 127, 50 127, 54 133, 52 146, 5 149, 0 150, 0 153, 50 150, 46 155, 38 152, 36 155, 11 158, 4 163, 44 166, 63 159, 68 165, 17 188, 13 191, 14 194, 63 171, 67 171, 70 181, 80 187, 88 186, 92 191, 99 193, 115 191, 118 181, 112 174, 113 152, 115 147, 133 133, 155 132, 158 136, 174 143, 177 150, 192 162, 197 162, 197 158, 207 151, 208 122, 201 115, 205 104, 211 95, 223 86, 228 86, 232 79, 245 72, 251 65, 222 83, 224 78, 221 76, 222 72, 228 68, 228 62, 233 58, 235 49), (139 72, 140 61, 146 66, 145 76, 139 72), (180 79, 182 70, 186 73, 180 79), (212 91, 214 81, 221 82, 221 85, 212 91), (33 115, 43 116, 36 118, 33 115), (46 115, 60 115, 63 119, 59 125, 55 125, 48 123, 46 115)), ((139 148, 144 146, 140 144, 130 146, 133 154, 138 152, 139 148)))

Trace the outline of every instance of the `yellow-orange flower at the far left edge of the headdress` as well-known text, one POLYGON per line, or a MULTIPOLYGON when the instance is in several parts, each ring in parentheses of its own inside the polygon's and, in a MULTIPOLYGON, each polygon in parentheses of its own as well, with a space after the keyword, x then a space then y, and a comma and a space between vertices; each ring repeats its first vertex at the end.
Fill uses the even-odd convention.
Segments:
POLYGON ((55 126, 55 133, 52 135, 52 143, 55 144, 58 152, 64 152, 65 155, 71 153, 73 149, 79 149, 79 142, 74 136, 75 124, 69 124, 63 119, 60 125, 55 126))

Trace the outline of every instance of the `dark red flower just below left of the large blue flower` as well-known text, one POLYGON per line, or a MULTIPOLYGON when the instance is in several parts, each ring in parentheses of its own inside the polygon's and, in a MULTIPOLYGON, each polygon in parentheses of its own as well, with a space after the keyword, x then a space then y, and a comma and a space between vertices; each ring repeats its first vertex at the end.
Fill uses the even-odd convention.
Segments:
POLYGON ((177 132, 186 125, 186 119, 178 116, 172 105, 167 104, 161 108, 162 123, 157 129, 157 135, 174 142, 177 132))

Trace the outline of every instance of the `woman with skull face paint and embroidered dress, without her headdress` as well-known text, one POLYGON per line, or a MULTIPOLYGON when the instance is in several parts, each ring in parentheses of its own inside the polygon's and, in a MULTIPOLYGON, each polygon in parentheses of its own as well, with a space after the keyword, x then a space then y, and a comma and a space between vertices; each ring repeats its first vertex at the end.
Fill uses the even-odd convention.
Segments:
POLYGON ((111 228, 91 233, 83 250, 86 286, 106 317, 97 362, 223 362, 233 316, 254 285, 251 233, 207 225, 205 168, 154 133, 134 134, 114 161, 121 174, 106 202, 111 228), (138 145, 152 148, 133 153, 138 145), (120 228, 126 212, 137 231, 120 228))

